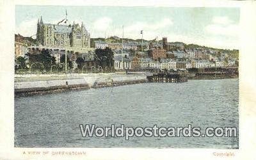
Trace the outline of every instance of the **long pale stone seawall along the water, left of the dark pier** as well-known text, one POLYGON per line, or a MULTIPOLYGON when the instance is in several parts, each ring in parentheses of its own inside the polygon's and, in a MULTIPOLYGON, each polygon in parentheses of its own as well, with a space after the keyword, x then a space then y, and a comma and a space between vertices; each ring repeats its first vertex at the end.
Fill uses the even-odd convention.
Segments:
POLYGON ((15 82, 15 96, 31 96, 79 89, 112 87, 147 82, 144 75, 91 75, 61 80, 34 80, 15 82))

